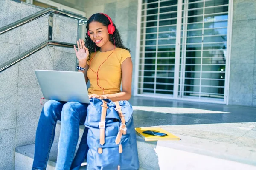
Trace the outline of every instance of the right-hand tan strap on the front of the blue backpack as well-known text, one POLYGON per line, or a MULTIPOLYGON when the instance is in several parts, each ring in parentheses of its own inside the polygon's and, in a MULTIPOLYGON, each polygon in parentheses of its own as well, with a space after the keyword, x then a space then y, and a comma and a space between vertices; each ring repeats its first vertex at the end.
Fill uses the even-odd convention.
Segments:
POLYGON ((119 129, 119 132, 116 136, 116 144, 119 144, 122 138, 122 134, 126 135, 126 125, 125 125, 125 116, 122 113, 121 107, 119 105, 119 102, 114 102, 116 104, 116 108, 115 110, 117 111, 117 113, 119 114, 119 117, 121 119, 121 126, 119 129))

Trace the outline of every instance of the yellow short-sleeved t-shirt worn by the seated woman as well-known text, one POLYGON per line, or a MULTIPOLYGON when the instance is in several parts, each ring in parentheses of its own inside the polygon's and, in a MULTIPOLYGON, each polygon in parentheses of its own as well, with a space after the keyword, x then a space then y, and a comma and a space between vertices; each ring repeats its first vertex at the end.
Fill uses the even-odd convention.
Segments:
POLYGON ((104 94, 114 94, 114 93, 121 92, 120 90, 121 80, 122 80, 121 64, 125 59, 127 59, 128 57, 131 57, 131 54, 129 53, 128 50, 125 50, 122 48, 116 48, 115 51, 113 53, 112 52, 113 50, 106 51, 106 52, 97 51, 95 56, 94 56, 94 53, 91 54, 91 58, 90 58, 91 62, 90 60, 87 61, 87 64, 90 65, 90 68, 87 71, 87 77, 90 80, 90 88, 88 89, 88 94, 102 95, 103 94, 102 88, 104 88, 104 94), (107 60, 105 61, 105 59, 107 60), (99 68, 98 84, 102 88, 100 88, 97 84, 96 73, 98 71, 98 68, 99 68), (94 73, 91 69, 96 73, 94 73))

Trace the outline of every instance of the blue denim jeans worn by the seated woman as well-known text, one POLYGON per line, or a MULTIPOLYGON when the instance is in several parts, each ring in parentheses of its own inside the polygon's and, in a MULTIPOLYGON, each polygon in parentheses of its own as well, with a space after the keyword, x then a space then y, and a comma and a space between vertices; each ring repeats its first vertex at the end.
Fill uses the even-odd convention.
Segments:
POLYGON ((42 109, 35 136, 35 156, 32 170, 46 170, 52 147, 56 122, 61 120, 56 170, 78 170, 88 152, 87 132, 74 154, 79 138, 79 125, 84 125, 88 104, 49 100, 42 109), (73 160, 74 158, 74 160, 73 160))

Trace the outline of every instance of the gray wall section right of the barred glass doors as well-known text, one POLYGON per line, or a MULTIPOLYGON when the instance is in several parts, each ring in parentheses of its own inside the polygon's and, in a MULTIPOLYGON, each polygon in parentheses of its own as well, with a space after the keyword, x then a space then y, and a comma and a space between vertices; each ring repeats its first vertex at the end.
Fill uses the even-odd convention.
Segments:
POLYGON ((229 105, 256 107, 256 1, 234 0, 229 105))

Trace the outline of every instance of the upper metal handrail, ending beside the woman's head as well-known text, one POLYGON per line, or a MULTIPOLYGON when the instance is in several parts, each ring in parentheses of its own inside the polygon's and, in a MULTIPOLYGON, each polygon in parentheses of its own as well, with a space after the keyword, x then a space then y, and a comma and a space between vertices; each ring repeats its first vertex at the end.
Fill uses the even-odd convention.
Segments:
POLYGON ((58 10, 58 9, 55 9, 55 8, 46 8, 46 9, 44 9, 42 11, 39 11, 39 12, 37 12, 35 14, 32 14, 32 15, 29 15, 28 17, 25 17, 25 18, 23 18, 21 20, 18 20, 18 21, 14 22, 14 23, 11 23, 11 24, 9 24, 7 26, 4 26, 4 27, 0 28, 0 35, 5 33, 5 32, 7 32, 7 31, 10 31, 10 30, 12 30, 14 28, 22 26, 22 25, 24 25, 26 23, 29 23, 29 22, 31 22, 33 20, 36 20, 36 19, 38 19, 40 17, 43 17, 43 16, 45 16, 47 14, 50 14, 50 13, 62 15, 64 17, 73 18, 75 20, 81 21, 82 24, 87 22, 87 18, 85 18, 85 17, 81 17, 79 15, 72 14, 72 13, 69 13, 69 12, 66 12, 66 11, 61 11, 61 10, 58 10))

